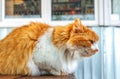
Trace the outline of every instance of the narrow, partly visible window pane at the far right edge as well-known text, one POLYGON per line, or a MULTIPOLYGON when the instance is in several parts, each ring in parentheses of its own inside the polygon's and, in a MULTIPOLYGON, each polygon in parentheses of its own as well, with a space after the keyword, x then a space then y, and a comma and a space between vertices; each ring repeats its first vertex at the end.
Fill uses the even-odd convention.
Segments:
POLYGON ((120 20, 120 0, 111 0, 112 20, 120 20))

